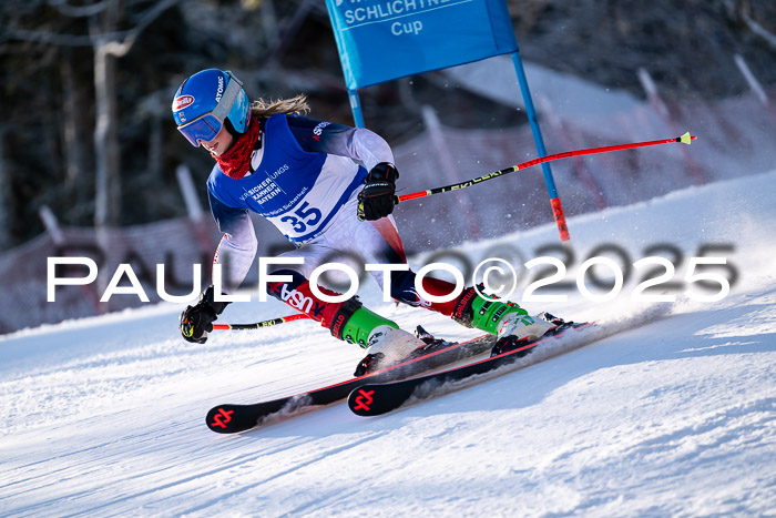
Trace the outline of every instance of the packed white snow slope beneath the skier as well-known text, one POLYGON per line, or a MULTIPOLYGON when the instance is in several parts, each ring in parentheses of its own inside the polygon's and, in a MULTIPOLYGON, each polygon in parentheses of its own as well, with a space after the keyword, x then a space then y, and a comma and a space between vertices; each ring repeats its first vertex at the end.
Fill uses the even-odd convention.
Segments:
MULTIPOLYGON (((163 304, 4 336, 0 515, 773 512, 775 197, 772 172, 572 219, 572 280, 592 252, 620 264, 622 251, 631 263, 665 255, 677 263, 675 281, 688 257, 705 254, 726 257, 711 271, 734 281, 732 291, 696 302, 684 291, 719 285, 674 288, 665 318, 378 418, 336 404, 236 436, 205 427, 217 404, 349 377, 363 352, 308 322, 214 332, 192 345, 177 334, 181 307, 163 304)), ((549 225, 458 252, 474 263, 493 250, 529 260, 557 243, 549 225)), ((616 317, 637 311, 631 296, 643 275, 632 272, 613 301, 591 302, 572 284, 565 302, 525 305, 578 321, 616 317)), ((371 281, 360 293, 406 328, 476 334, 382 303, 371 281)), ((287 313, 252 295, 222 321, 287 313)))

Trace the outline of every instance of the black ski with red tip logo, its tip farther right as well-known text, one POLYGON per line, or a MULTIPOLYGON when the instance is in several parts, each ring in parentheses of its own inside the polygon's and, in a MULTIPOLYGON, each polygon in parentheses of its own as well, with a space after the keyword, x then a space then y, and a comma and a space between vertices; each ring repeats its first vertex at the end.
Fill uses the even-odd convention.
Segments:
POLYGON ((625 321, 578 324, 554 335, 527 343, 514 351, 460 367, 401 380, 370 380, 354 388, 348 396, 348 407, 358 416, 386 414, 639 327, 658 318, 664 313, 665 307, 662 307, 625 321), (532 354, 528 355, 529 352, 532 354))

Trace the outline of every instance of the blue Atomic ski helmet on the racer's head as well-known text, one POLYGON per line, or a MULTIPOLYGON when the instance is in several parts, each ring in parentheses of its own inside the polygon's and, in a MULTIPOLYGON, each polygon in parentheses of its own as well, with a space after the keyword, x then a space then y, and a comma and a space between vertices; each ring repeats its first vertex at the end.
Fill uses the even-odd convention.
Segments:
POLYGON ((226 120, 245 133, 251 102, 243 83, 229 71, 207 69, 186 79, 175 92, 173 118, 177 130, 195 148, 215 139, 226 120))

